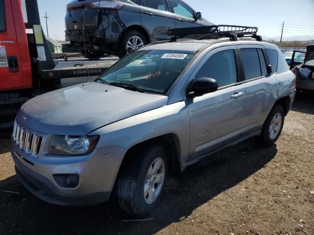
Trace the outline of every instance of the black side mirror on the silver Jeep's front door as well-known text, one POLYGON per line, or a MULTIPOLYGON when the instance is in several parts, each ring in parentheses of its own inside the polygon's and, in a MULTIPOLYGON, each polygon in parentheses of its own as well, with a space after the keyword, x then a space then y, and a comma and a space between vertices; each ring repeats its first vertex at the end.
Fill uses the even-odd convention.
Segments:
POLYGON ((215 79, 209 77, 201 77, 193 79, 187 89, 189 97, 202 96, 203 94, 212 93, 218 90, 218 83, 215 79))

